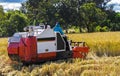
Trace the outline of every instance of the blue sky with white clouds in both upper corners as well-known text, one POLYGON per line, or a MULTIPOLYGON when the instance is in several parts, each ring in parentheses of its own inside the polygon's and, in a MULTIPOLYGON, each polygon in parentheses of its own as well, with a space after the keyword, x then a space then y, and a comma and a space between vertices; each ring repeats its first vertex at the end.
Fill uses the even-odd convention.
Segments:
MULTIPOLYGON (((13 9, 19 10, 21 7, 21 3, 25 2, 26 0, 0 0, 0 5, 3 6, 4 10, 13 9)), ((111 0, 108 2, 108 6, 114 4, 113 10, 116 12, 120 12, 120 0, 111 0)))

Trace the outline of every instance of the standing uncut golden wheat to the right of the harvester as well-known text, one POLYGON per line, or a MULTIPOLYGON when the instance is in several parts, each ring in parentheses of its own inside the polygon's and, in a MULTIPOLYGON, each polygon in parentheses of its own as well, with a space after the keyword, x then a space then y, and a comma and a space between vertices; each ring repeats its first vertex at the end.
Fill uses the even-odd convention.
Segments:
POLYGON ((85 41, 90 47, 90 51, 98 56, 120 55, 120 32, 100 32, 85 34, 68 34, 73 41, 85 41))

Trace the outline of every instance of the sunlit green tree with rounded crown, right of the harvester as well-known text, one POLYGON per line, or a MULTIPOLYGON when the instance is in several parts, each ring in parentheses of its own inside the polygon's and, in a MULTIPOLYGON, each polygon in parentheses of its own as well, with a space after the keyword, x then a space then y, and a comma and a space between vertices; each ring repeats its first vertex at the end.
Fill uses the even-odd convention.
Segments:
POLYGON ((97 25, 101 25, 107 14, 96 7, 95 3, 85 3, 80 7, 81 25, 87 28, 88 32, 93 32, 97 25))

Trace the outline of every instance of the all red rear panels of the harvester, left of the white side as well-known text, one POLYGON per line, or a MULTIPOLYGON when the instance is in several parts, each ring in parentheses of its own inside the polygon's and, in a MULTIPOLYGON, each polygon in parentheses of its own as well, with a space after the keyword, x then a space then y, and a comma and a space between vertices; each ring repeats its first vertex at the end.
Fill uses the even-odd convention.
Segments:
POLYGON ((18 55, 21 61, 37 60, 36 37, 21 38, 20 42, 10 42, 8 45, 9 55, 18 55))

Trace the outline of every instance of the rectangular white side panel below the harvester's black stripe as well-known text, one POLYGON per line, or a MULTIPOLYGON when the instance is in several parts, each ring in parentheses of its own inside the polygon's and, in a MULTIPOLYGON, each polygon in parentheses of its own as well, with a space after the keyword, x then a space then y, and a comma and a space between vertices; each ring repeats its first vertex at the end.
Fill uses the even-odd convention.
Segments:
POLYGON ((55 52, 55 41, 38 42, 37 49, 37 53, 55 52))

